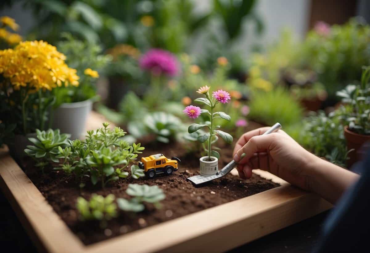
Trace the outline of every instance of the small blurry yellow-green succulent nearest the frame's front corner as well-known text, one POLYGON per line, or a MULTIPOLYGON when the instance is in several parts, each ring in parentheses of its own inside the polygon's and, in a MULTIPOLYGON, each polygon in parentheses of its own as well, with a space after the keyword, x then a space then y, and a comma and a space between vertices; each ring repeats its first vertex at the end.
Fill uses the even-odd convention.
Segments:
POLYGON ((80 214, 80 219, 83 221, 87 220, 99 220, 101 227, 107 225, 107 221, 116 217, 117 205, 114 203, 115 196, 109 194, 107 197, 102 195, 92 194, 90 201, 85 200, 83 197, 77 198, 77 210, 80 214))

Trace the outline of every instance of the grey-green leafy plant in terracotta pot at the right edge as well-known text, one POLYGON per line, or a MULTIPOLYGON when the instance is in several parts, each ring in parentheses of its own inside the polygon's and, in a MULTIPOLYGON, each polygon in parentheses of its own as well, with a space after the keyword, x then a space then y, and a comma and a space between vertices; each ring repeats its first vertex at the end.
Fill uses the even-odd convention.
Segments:
POLYGON ((342 98, 342 112, 345 122, 344 137, 349 153, 348 165, 351 166, 361 159, 361 146, 370 141, 370 66, 363 67, 359 85, 350 84, 346 89, 338 91, 337 96, 342 98))

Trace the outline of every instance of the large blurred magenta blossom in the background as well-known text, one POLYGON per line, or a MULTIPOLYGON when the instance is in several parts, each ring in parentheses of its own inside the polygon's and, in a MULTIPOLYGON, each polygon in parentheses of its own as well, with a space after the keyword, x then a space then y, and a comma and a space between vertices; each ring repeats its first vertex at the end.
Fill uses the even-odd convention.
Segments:
POLYGON ((157 76, 176 76, 179 70, 177 59, 172 53, 162 49, 151 49, 139 60, 141 69, 146 69, 157 76))

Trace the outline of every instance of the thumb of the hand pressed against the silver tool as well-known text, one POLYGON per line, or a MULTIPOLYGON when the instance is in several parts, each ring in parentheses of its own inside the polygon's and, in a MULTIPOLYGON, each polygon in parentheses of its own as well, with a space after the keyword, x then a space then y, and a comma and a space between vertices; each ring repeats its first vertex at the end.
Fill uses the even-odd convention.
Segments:
POLYGON ((275 139, 276 133, 268 135, 256 135, 249 139, 249 141, 239 149, 235 156, 234 160, 237 163, 245 163, 258 152, 266 152, 266 150, 272 149, 272 143, 275 139), (242 154, 245 153, 245 157, 240 159, 242 154))

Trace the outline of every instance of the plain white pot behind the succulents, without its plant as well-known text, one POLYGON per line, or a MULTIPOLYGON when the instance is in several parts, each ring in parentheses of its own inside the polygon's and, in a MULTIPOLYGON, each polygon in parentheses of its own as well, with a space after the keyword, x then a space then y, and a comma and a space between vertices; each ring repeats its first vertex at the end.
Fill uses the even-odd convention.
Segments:
POLYGON ((71 134, 71 139, 78 139, 85 132, 87 117, 92 109, 92 101, 63 103, 54 111, 53 129, 71 134))

